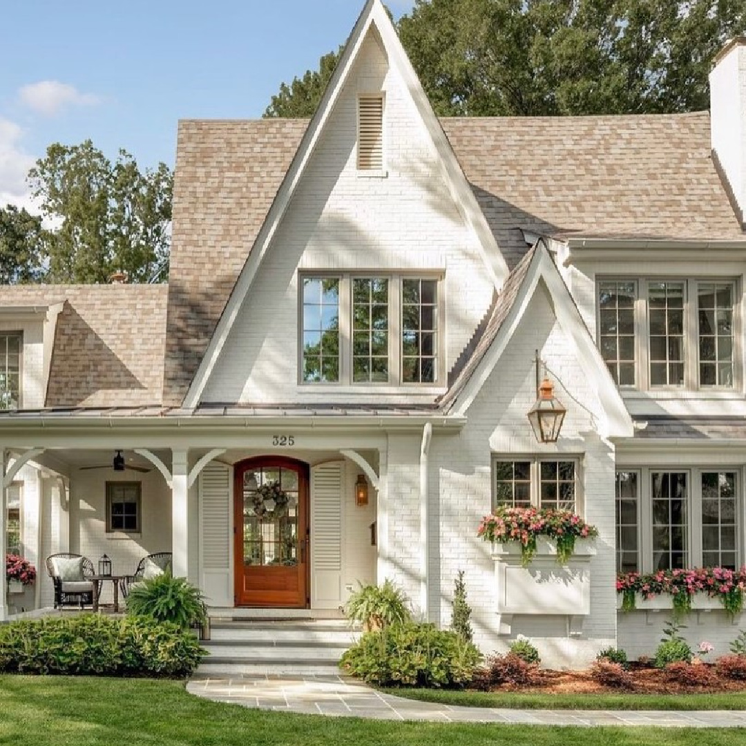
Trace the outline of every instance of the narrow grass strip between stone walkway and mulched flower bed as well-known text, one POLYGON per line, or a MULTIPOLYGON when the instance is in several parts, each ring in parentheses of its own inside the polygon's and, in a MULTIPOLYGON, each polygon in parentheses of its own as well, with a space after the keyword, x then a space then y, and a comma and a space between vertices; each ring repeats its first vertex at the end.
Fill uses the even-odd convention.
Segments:
POLYGON ((545 694, 544 692, 458 692, 442 689, 383 689, 384 692, 465 707, 523 709, 746 709, 746 693, 691 695, 545 694))

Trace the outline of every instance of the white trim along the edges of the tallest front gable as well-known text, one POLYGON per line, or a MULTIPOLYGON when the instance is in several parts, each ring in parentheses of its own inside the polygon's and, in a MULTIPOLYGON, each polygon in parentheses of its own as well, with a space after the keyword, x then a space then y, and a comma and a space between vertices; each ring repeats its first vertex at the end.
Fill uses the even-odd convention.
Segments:
POLYGON ((451 192, 451 197, 459 207, 467 228, 472 236, 474 236, 480 248, 486 271, 495 289, 499 290, 501 288, 505 278, 509 274, 507 263, 498 247, 495 236, 492 234, 486 218, 477 203, 477 198, 474 197, 474 192, 471 191, 471 187, 466 180, 466 175, 464 175, 459 165, 454 151, 448 142, 448 138, 445 137, 445 132, 439 120, 435 116, 432 107, 430 107, 427 95, 424 93, 416 72, 407 58, 404 48, 401 46, 401 42, 386 13, 386 9, 383 7, 383 3, 381 0, 368 0, 366 6, 363 8, 363 13, 361 13, 352 31, 345 51, 342 53, 342 59, 339 60, 334 75, 322 97, 319 108, 316 110, 313 119, 311 119, 310 125, 308 125, 307 131, 298 147, 298 151, 283 179, 283 183, 280 185, 280 189, 278 189, 275 201, 272 203, 272 207, 270 207, 266 220, 254 242, 254 248, 248 254, 248 259, 236 280, 236 285, 233 288, 233 292, 231 292, 231 297, 228 298, 228 303, 225 305, 225 310, 216 325, 210 343, 207 345, 204 357, 184 398, 184 407, 187 409, 196 407, 200 401, 204 387, 210 379, 210 375, 220 357, 225 342, 228 340, 228 334, 236 321, 248 290, 257 276, 259 267, 269 250, 275 233, 278 231, 292 195, 295 189, 297 189, 298 184, 300 184, 310 157, 319 142, 322 132, 325 130, 336 101, 339 99, 339 95, 350 75, 352 66, 360 53, 360 47, 363 45, 368 31, 373 25, 380 34, 383 41, 383 48, 388 54, 392 66, 398 68, 402 80, 409 90, 424 125, 433 140, 433 145, 435 145, 436 151, 440 155, 442 174, 451 192))

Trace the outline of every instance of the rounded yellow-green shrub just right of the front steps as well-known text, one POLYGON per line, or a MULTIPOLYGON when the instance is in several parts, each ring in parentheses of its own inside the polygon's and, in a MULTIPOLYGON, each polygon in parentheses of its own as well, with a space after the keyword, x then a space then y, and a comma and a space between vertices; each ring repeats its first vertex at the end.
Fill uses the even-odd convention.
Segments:
POLYGON ((345 671, 377 686, 463 686, 480 653, 452 630, 434 624, 392 624, 364 634, 342 656, 345 671))

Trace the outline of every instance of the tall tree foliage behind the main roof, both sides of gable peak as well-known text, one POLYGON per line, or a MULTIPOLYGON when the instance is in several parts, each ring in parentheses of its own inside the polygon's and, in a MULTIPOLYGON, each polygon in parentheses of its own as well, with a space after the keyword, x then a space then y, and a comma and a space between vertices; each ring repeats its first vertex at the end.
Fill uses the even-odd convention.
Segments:
MULTIPOLYGON (((398 33, 439 116, 706 109, 707 75, 746 31, 743 0, 416 0, 398 33)), ((339 53, 266 116, 310 116, 339 53)), ((326 62, 325 62, 326 60, 326 62)))

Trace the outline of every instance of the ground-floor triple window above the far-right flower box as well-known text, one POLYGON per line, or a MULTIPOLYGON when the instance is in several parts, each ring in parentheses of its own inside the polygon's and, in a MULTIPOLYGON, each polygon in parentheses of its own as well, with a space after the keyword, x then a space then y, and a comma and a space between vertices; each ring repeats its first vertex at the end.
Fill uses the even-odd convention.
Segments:
POLYGON ((740 566, 739 469, 620 468, 618 571, 740 566))

